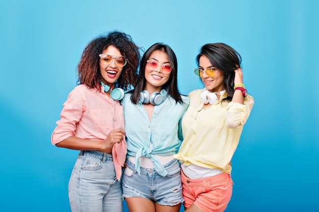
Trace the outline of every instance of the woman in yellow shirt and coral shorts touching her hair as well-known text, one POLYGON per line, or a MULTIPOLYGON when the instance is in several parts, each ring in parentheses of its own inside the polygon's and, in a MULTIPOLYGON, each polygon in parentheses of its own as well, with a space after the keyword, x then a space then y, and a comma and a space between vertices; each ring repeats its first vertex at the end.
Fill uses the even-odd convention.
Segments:
POLYGON ((205 88, 189 94, 182 119, 185 211, 224 211, 232 194, 231 158, 254 100, 243 84, 241 56, 223 43, 205 44, 196 57, 205 88))

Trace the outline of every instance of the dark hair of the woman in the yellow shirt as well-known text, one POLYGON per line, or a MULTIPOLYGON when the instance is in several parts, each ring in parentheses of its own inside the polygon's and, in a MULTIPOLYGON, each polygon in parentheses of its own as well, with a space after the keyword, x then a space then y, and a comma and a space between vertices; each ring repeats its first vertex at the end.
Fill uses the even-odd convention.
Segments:
POLYGON ((223 72, 223 86, 227 93, 226 100, 231 100, 234 95, 234 70, 241 67, 241 55, 224 43, 208 43, 202 46, 200 53, 196 57, 197 65, 199 65, 199 58, 203 55, 208 57, 211 65, 223 72))

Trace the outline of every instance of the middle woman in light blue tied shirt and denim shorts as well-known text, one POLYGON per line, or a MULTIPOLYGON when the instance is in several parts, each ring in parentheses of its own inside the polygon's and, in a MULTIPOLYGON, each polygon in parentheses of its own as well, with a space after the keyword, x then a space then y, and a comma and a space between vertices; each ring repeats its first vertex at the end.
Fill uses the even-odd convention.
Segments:
POLYGON ((177 88, 173 50, 155 43, 144 53, 135 89, 125 94, 127 167, 122 177, 129 211, 176 211, 183 202, 178 123, 189 105, 177 88))

